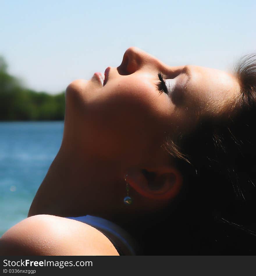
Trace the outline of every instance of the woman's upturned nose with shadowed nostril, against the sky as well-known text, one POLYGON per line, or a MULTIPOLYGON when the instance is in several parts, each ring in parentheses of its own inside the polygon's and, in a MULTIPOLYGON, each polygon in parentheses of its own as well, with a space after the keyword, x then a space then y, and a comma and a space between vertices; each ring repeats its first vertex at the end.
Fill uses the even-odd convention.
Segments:
POLYGON ((157 59, 137 47, 130 47, 125 51, 121 65, 118 67, 120 74, 129 75, 142 66, 154 63, 157 59))

